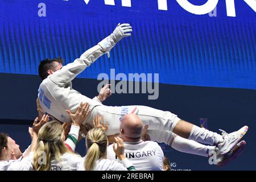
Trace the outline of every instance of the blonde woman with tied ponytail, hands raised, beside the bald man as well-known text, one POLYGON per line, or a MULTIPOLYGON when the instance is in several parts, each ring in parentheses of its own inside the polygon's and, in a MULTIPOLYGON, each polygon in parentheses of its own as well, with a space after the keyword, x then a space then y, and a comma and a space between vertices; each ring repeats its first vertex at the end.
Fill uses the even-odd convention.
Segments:
POLYGON ((77 164, 77 171, 131 171, 135 167, 125 157, 123 140, 115 137, 113 150, 117 155, 119 162, 106 159, 107 147, 109 145, 108 137, 105 131, 108 129, 103 126, 103 118, 94 118, 94 129, 90 130, 86 135, 86 148, 87 154, 82 158, 81 162, 77 164), (100 127, 97 127, 100 126, 100 127))

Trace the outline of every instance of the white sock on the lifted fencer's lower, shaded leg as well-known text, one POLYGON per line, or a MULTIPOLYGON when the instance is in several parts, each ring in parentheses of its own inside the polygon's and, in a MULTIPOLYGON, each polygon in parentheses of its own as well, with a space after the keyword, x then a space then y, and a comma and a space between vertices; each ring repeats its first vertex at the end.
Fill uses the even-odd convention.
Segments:
POLYGON ((193 140, 185 139, 180 136, 176 136, 172 141, 172 148, 177 151, 185 152, 188 154, 195 154, 208 157, 209 151, 214 150, 214 146, 205 146, 201 143, 193 140))

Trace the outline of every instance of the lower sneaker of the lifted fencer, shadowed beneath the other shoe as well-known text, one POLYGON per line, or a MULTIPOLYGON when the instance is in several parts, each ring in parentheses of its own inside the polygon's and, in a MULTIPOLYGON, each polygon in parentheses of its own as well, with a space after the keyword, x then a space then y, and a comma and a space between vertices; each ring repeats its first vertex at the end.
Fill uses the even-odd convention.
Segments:
POLYGON ((238 156, 240 156, 245 149, 245 145, 245 140, 237 143, 236 146, 234 146, 234 148, 230 152, 228 152, 228 154, 226 154, 223 158, 221 158, 220 160, 218 160, 217 158, 217 166, 224 166, 229 162, 232 162, 232 160, 238 158, 238 156))

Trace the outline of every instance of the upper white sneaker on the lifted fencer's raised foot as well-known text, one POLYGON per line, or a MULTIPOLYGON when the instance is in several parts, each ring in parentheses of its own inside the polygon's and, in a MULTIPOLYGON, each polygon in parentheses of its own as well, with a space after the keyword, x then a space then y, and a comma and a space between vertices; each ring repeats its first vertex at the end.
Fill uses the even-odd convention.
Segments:
POLYGON ((228 154, 228 152, 231 151, 234 146, 236 146, 236 144, 241 140, 243 135, 246 134, 247 130, 248 126, 243 126, 240 130, 234 131, 230 134, 226 133, 224 130, 220 130, 222 131, 222 137, 224 139, 224 142, 217 145, 218 149, 220 149, 220 154, 228 154))

